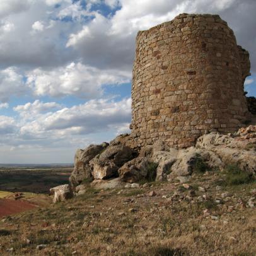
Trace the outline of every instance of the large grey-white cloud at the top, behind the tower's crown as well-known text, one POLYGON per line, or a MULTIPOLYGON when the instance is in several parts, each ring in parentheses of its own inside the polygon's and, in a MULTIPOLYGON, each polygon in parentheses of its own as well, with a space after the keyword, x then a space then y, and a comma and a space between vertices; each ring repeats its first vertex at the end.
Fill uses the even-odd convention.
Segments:
POLYGON ((151 26, 172 20, 179 13, 213 13, 221 15, 235 30, 238 43, 250 51, 252 68, 256 69, 256 55, 253 50, 256 36, 255 33, 250 32, 256 25, 253 18, 253 13, 256 11, 255 1, 120 0, 110 2, 119 4, 121 7, 115 15, 108 18, 96 13, 90 23, 84 25, 78 32, 71 33, 67 41, 66 46, 79 52, 87 64, 100 68, 118 67, 131 71, 138 30, 146 30, 151 26))

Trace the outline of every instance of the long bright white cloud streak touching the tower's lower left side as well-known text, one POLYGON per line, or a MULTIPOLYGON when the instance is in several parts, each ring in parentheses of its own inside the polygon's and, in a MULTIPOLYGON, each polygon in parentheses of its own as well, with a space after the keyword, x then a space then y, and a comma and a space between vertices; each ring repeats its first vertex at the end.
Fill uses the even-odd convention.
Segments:
POLYGON ((112 125, 131 120, 131 98, 120 102, 91 100, 83 105, 63 108, 45 119, 46 130, 70 129, 88 134, 107 131, 112 125))

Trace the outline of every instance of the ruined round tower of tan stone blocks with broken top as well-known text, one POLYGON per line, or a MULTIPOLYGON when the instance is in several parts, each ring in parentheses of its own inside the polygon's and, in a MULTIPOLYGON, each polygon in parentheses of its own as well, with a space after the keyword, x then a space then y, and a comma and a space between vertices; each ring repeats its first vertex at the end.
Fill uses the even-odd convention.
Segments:
POLYGON ((138 32, 132 78, 132 146, 163 139, 192 146, 247 119, 248 52, 218 15, 178 15, 138 32))

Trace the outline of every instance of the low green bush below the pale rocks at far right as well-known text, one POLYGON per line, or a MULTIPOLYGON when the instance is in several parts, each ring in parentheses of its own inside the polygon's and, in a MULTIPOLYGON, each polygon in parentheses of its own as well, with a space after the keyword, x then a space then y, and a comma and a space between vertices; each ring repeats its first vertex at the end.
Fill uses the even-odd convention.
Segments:
POLYGON ((224 172, 227 185, 241 185, 253 181, 252 174, 241 171, 237 165, 227 165, 224 172))

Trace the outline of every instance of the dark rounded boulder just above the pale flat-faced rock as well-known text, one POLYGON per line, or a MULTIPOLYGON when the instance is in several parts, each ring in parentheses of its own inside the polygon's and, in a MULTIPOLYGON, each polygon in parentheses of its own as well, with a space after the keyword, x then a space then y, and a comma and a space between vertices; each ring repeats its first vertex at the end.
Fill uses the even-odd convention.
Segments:
POLYGON ((124 163, 133 158, 132 153, 132 149, 128 146, 118 144, 115 146, 109 146, 102 154, 100 154, 98 159, 102 163, 112 161, 112 163, 121 167, 124 163))

